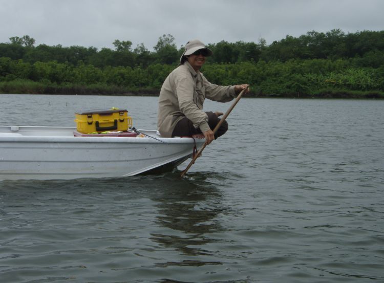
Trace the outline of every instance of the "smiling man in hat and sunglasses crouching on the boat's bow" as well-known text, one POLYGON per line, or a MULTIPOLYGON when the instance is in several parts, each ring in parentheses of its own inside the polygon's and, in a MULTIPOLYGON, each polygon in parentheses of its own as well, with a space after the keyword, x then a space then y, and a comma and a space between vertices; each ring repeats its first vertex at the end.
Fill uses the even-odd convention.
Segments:
POLYGON ((163 137, 191 136, 205 138, 207 144, 228 129, 224 121, 214 135, 221 112, 203 112, 205 98, 227 102, 237 96, 247 84, 220 86, 212 84, 200 73, 212 51, 200 40, 187 42, 180 66, 165 79, 159 96, 157 127, 163 137))

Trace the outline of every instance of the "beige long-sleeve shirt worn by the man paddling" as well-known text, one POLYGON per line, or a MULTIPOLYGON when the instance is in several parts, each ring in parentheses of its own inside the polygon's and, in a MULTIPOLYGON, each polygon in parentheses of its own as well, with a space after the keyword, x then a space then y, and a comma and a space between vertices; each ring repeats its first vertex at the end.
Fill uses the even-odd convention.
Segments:
POLYGON ((161 136, 171 137, 177 122, 187 117, 204 133, 210 129, 203 112, 205 98, 227 102, 235 96, 234 86, 212 84, 184 62, 168 75, 161 87, 157 128, 161 136))

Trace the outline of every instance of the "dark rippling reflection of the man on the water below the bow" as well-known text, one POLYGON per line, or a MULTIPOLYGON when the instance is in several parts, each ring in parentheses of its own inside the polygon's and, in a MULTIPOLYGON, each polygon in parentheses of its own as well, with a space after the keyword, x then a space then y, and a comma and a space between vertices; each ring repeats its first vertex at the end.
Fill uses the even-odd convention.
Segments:
MULTIPOLYGON (((167 233, 152 233, 151 240, 166 248, 173 248, 186 255, 205 255, 209 251, 202 246, 216 241, 208 233, 222 231, 217 215, 226 208, 222 204, 221 191, 208 182, 206 176, 197 180, 181 180, 174 174, 168 175, 169 182, 153 201, 158 202, 157 223, 167 228, 167 233), (180 233, 181 232, 181 233, 180 233)), ((188 261, 187 263, 167 263, 169 265, 218 264, 188 261)))

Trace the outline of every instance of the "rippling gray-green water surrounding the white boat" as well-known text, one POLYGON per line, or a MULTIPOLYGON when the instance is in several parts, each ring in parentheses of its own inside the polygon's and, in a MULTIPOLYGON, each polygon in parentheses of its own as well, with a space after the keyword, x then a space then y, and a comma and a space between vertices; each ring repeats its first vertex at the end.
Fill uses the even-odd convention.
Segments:
MULTIPOLYGON (((156 125, 156 97, 0 100, 3 125, 156 125)), ((384 282, 383 106, 244 98, 184 179, 0 182, 0 281, 384 282)))

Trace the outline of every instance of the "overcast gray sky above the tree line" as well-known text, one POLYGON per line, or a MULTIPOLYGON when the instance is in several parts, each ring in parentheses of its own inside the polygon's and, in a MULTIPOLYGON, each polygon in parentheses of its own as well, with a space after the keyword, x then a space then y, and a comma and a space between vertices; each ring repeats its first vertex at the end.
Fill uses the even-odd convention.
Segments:
POLYGON ((114 49, 115 39, 153 50, 163 34, 267 45, 286 35, 384 30, 382 0, 0 0, 0 42, 29 35, 36 45, 114 49))

